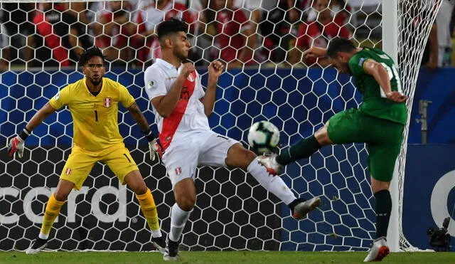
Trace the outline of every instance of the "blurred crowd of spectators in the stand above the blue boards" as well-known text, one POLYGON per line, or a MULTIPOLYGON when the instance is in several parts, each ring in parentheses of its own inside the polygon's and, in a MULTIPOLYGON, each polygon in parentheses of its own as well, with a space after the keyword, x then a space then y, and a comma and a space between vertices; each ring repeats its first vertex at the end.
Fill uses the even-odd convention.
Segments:
MULTIPOLYGON (((206 65, 219 58, 227 63, 228 68, 270 63, 324 66, 327 65, 325 60, 306 60, 301 56, 302 51, 310 46, 326 47, 331 38, 350 38, 353 33, 360 44, 380 46, 380 0, 368 1, 373 6, 370 11, 359 11, 358 6, 351 4, 353 2, 131 0, 1 3, 0 70, 15 65, 75 67, 82 48, 93 45, 102 48, 114 66, 141 68, 160 58, 156 26, 172 17, 188 23, 188 36, 193 46, 190 59, 196 65, 206 65)), ((450 28, 446 31, 444 37, 449 36, 451 40, 450 28)), ((451 53, 451 45, 444 47, 444 54, 447 52, 451 53)))

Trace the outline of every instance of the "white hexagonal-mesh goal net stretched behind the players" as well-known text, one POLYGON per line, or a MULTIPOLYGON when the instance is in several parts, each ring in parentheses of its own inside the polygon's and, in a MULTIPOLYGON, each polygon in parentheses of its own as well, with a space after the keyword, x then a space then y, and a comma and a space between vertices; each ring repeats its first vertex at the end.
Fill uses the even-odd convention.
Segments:
MULTIPOLYGON (((410 109, 419 63, 441 1, 398 2, 397 65, 410 109)), ((360 104, 353 80, 328 68, 324 60, 301 58, 305 48, 326 46, 336 36, 353 38, 361 47, 382 48, 378 0, 0 4, 3 146, 58 90, 82 78, 77 54, 93 45, 107 56, 106 77, 126 86, 152 123, 143 72, 161 56, 156 25, 171 17, 189 25, 190 59, 203 84, 211 60, 228 63, 210 127, 245 145, 253 122, 273 122, 281 131, 282 146, 287 146, 314 133, 336 112, 360 104)), ((22 159, 11 159, 6 147, 0 149, 0 250, 25 250, 38 236, 45 202, 70 154, 72 124, 68 109, 60 110, 28 137, 22 159)), ((174 202, 166 170, 149 160, 146 140, 122 107, 119 128, 154 194, 166 233, 174 202)), ((367 250, 375 237, 367 156, 363 144, 337 145, 286 168, 282 178, 296 194, 322 199, 321 208, 303 221, 291 218, 287 206, 245 171, 200 167, 198 198, 183 231, 183 246, 187 250, 367 250)), ((397 175, 400 215, 405 157, 406 144, 397 175)), ((400 226, 401 248, 410 248, 402 234, 401 216, 392 221, 400 226)), ((134 194, 103 164, 96 164, 82 189, 70 194, 50 238, 51 250, 154 249, 134 194)))

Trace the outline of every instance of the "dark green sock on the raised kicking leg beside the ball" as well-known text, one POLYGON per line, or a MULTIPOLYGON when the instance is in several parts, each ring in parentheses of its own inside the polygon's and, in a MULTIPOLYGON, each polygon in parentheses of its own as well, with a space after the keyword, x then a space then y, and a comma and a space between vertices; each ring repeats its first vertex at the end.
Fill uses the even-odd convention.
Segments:
POLYGON ((286 165, 299 159, 308 158, 321 147, 321 144, 319 144, 313 134, 311 137, 301 139, 299 142, 289 147, 289 149, 282 152, 282 154, 279 154, 277 162, 286 165))

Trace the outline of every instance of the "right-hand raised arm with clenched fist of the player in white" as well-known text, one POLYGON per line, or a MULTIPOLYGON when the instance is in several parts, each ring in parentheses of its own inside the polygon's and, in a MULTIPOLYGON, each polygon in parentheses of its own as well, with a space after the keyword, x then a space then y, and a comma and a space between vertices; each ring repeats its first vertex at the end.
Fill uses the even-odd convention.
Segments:
POLYGON ((200 102, 204 105, 204 113, 209 117, 213 112, 213 105, 215 105, 216 85, 218 84, 218 78, 223 73, 225 65, 219 60, 214 60, 208 65, 208 83, 207 90, 205 90, 204 97, 200 98, 200 102))

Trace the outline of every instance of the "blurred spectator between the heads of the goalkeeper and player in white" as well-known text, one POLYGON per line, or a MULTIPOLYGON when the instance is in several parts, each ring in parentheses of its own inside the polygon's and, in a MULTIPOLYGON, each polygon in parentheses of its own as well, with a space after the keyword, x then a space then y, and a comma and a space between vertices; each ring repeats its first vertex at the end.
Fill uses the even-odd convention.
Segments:
POLYGON ((104 4, 104 9, 97 12, 96 21, 99 23, 93 26, 94 31, 100 32, 95 44, 102 48, 107 60, 114 64, 127 62, 132 57, 128 46, 131 5, 128 1, 105 1, 104 4))

